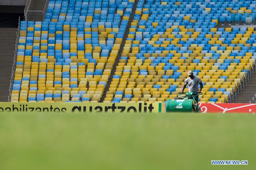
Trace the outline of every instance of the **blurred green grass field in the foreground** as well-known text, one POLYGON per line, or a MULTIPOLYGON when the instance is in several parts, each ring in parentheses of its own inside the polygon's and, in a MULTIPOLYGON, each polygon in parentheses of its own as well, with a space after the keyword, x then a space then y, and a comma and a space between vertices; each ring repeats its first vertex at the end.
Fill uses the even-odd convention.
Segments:
POLYGON ((252 114, 0 114, 0 169, 255 169, 255 122, 252 114))

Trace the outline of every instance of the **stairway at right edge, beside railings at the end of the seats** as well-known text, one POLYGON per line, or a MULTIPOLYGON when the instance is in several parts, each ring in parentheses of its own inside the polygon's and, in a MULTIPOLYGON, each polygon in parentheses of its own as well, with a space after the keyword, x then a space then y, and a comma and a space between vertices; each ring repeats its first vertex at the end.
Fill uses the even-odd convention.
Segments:
POLYGON ((247 82, 247 85, 242 90, 242 93, 239 93, 237 98, 234 100, 234 103, 249 103, 256 93, 255 84, 256 74, 254 73, 254 75, 251 76, 251 79, 249 79, 249 82, 247 82))

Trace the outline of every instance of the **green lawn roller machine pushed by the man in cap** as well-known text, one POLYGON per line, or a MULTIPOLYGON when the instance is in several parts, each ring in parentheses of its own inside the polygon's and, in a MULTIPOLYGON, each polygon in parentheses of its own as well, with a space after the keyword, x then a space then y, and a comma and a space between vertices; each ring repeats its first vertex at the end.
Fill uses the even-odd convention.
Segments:
POLYGON ((178 93, 181 97, 175 97, 175 99, 167 100, 166 112, 200 112, 201 109, 195 101, 195 97, 202 95, 203 93, 197 92, 184 92, 178 93), (185 94, 185 95, 182 95, 185 94), (188 99, 184 99, 188 98, 188 99))

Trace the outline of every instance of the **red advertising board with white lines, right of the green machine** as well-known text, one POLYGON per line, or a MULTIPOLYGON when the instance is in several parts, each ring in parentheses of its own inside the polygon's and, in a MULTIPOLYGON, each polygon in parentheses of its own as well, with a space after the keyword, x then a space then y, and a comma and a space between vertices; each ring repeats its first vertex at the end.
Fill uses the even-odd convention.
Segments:
POLYGON ((256 104, 199 103, 202 113, 256 113, 256 104))

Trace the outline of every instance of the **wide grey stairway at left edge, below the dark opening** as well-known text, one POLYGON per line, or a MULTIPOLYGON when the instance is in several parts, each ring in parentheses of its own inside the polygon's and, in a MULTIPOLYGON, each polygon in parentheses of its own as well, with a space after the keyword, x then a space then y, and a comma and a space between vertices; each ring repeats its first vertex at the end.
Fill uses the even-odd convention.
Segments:
POLYGON ((16 28, 0 28, 0 102, 8 101, 16 31, 16 28))

